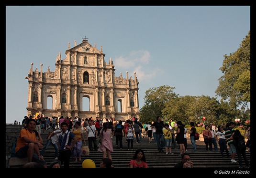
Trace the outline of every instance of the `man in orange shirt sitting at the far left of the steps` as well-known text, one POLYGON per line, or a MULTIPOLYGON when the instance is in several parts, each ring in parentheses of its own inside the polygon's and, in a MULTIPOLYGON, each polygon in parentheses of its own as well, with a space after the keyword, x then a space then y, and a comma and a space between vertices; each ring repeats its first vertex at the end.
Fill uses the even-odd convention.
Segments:
POLYGON ((29 119, 27 124, 27 128, 22 129, 18 136, 15 154, 17 157, 28 157, 29 162, 32 162, 33 160, 33 162, 38 162, 47 168, 46 162, 39 152, 38 144, 40 143, 36 141, 36 136, 33 132, 36 126, 36 121, 34 119, 29 119), (34 151, 37 155, 34 154, 34 151))

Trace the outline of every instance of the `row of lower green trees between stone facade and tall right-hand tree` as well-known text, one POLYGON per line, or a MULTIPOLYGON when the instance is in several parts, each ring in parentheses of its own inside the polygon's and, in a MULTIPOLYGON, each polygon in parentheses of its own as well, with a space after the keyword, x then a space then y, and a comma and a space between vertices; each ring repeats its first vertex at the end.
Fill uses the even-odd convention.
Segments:
POLYGON ((160 116, 164 121, 181 121, 185 125, 190 122, 205 125, 214 123, 217 126, 222 123, 234 122, 235 118, 240 118, 245 125, 249 120, 250 111, 244 114, 236 109, 236 104, 232 102, 219 102, 217 98, 210 96, 179 96, 173 92, 175 88, 168 85, 150 88, 145 92, 145 105, 141 108, 141 122, 156 121, 156 116, 160 116), (204 116, 203 121, 200 116, 204 116))

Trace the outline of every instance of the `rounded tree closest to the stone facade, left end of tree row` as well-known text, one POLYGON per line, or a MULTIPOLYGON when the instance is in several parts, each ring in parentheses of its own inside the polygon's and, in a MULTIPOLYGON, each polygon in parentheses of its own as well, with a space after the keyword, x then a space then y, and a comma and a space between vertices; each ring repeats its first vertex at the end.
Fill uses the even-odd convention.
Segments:
POLYGON ((162 110, 164 104, 177 97, 173 92, 175 87, 163 85, 159 87, 150 88, 145 92, 145 105, 140 109, 140 119, 142 122, 155 121, 156 116, 163 117, 162 110))

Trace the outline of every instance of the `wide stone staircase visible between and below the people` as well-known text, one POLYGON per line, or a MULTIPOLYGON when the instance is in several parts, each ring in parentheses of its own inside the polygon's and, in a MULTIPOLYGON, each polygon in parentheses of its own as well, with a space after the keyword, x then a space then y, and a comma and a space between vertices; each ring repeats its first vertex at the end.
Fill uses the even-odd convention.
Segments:
MULTIPOLYGON (((41 134, 45 146, 47 134, 48 132, 51 132, 52 130, 49 129, 45 131, 45 134, 41 134)), ((146 162, 149 168, 174 168, 175 164, 181 161, 181 157, 178 157, 179 155, 179 147, 177 145, 177 149, 173 149, 172 147, 172 153, 173 155, 166 155, 165 149, 163 153, 159 153, 157 151, 157 146, 154 143, 154 139, 151 143, 149 143, 149 140, 145 133, 143 133, 145 138, 142 139, 140 143, 134 142, 134 151, 128 151, 127 143, 125 143, 125 137, 122 138, 123 143, 123 149, 120 150, 120 148, 116 147, 116 141, 115 137, 112 138, 112 144, 114 152, 111 153, 112 156, 112 162, 114 168, 128 168, 129 163, 134 156, 134 152, 136 149, 141 148, 145 152, 146 162)), ((86 138, 86 134, 84 133, 84 136, 86 138)), ((192 151, 192 145, 190 142, 190 139, 187 139, 188 142, 188 152, 191 157, 191 161, 193 162, 194 168, 238 168, 238 163, 231 163, 231 158, 223 158, 221 156, 220 151, 206 151, 205 150, 205 144, 203 141, 197 140, 196 141, 196 147, 197 151, 192 151)), ((97 143, 98 139, 97 139, 97 143)), ((86 140, 86 145, 89 146, 89 142, 86 140)), ((84 146, 84 143, 83 143, 84 146)), ((219 146, 218 146, 219 147, 219 146)), ((228 147, 229 148, 229 147, 228 147)), ((219 149, 220 150, 220 149, 219 149)), ((47 162, 47 167, 51 162, 54 161, 54 153, 55 149, 52 145, 50 145, 47 150, 45 150, 44 158, 47 162)), ((250 163, 250 152, 246 150, 246 157, 250 163)), ((82 156, 81 159, 91 159, 95 162, 96 168, 100 168, 100 162, 102 160, 102 153, 98 153, 95 151, 92 151, 89 153, 89 156, 82 156)), ((238 161, 238 158, 236 156, 236 161, 238 161)), ((243 166, 245 166, 244 159, 242 158, 243 166)), ((70 158, 70 168, 82 168, 82 161, 75 162, 75 158, 70 158)))

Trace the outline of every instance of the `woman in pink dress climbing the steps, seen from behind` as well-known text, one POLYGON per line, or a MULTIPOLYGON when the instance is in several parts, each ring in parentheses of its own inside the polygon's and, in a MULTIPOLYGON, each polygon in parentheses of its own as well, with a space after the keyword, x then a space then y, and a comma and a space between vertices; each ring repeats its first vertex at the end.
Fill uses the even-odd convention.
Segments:
POLYGON ((113 152, 112 140, 111 140, 112 131, 108 129, 108 124, 103 123, 103 128, 100 131, 100 136, 102 135, 102 142, 99 145, 98 152, 103 153, 103 158, 108 157, 112 160, 111 152, 113 152))

